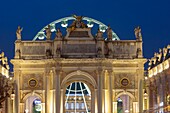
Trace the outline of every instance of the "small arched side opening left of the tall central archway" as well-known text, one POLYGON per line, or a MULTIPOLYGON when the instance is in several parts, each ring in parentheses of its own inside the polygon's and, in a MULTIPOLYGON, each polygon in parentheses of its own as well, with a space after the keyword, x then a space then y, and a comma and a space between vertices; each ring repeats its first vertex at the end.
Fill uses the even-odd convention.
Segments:
POLYGON ((41 113, 42 104, 38 96, 29 96, 24 103, 24 113, 41 113))

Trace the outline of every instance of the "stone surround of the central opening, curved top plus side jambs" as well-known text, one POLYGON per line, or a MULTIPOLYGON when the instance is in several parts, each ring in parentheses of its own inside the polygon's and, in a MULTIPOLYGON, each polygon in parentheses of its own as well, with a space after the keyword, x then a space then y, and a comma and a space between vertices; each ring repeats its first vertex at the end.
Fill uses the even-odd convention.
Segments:
POLYGON ((70 83, 73 83, 73 82, 84 82, 88 88, 90 89, 91 91, 91 106, 95 106, 94 108, 92 107, 91 108, 91 111, 95 113, 95 111, 97 110, 96 106, 97 106, 97 103, 95 103, 97 101, 97 98, 95 97, 96 95, 96 90, 97 89, 97 84, 96 84, 96 81, 95 79, 93 78, 92 75, 90 75, 89 73, 85 72, 85 71, 80 71, 80 70, 77 70, 77 71, 74 71, 74 72, 71 72, 69 74, 66 75, 66 77, 61 81, 61 91, 62 91, 62 101, 61 101, 61 111, 65 111, 65 108, 63 106, 63 103, 65 103, 65 91, 66 91, 66 88, 68 87, 68 85, 70 85, 70 83))

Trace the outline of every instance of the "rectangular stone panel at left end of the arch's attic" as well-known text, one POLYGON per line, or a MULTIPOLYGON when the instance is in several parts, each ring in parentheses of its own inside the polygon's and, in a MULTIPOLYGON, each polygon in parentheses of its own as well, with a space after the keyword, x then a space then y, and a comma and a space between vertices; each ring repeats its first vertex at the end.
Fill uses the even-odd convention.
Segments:
POLYGON ((45 46, 24 46, 22 47, 23 55, 44 55, 45 46))

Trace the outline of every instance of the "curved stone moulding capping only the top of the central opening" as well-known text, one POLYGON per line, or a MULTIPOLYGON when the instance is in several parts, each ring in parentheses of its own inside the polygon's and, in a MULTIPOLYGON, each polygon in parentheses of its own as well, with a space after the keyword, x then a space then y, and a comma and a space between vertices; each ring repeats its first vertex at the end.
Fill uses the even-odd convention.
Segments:
POLYGON ((69 73, 62 80, 61 88, 63 89, 67 83, 71 83, 72 81, 85 81, 86 83, 92 85, 94 88, 97 88, 95 79, 89 73, 80 70, 69 73))

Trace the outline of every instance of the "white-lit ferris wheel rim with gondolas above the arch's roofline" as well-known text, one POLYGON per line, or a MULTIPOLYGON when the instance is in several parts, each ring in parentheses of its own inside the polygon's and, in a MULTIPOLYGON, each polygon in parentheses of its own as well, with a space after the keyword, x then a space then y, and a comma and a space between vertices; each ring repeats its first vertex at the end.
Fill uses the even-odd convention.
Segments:
MULTIPOLYGON (((56 25, 60 24, 62 28, 67 28, 68 27, 68 23, 71 20, 75 20, 74 17, 65 17, 65 18, 61 18, 58 20, 55 20, 53 22, 51 22, 50 24, 46 25, 43 29, 41 29, 36 36, 34 37, 33 41, 39 39, 39 40, 43 40, 45 39, 47 36, 45 35, 45 30, 46 28, 48 28, 48 26, 50 26, 50 30, 52 33, 56 32, 56 25)), ((108 26, 106 26, 105 24, 103 24, 102 22, 89 18, 89 17, 83 17, 82 19, 83 21, 86 22, 88 28, 92 28, 94 27, 94 24, 98 25, 98 28, 100 29, 100 31, 102 31, 103 33, 106 32, 106 29, 108 28, 108 26)), ((112 31, 112 40, 120 40, 119 37, 116 35, 116 33, 114 31, 112 31)))

